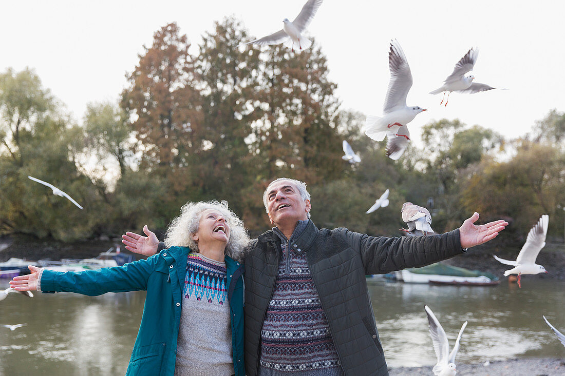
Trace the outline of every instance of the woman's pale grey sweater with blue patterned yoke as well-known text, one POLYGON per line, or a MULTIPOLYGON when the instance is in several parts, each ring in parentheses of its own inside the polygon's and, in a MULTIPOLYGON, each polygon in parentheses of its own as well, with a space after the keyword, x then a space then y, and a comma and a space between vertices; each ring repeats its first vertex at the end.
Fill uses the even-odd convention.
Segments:
POLYGON ((226 282, 225 263, 189 253, 175 376, 234 374, 226 282))

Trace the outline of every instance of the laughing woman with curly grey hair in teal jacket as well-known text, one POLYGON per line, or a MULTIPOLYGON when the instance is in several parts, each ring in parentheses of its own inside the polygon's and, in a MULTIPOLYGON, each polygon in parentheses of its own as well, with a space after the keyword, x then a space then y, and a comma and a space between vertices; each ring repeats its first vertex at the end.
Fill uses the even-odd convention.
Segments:
POLYGON ((249 237, 227 202, 188 203, 167 229, 167 249, 146 260, 88 270, 32 274, 17 291, 101 295, 147 290, 127 375, 244 376, 244 284, 249 237))

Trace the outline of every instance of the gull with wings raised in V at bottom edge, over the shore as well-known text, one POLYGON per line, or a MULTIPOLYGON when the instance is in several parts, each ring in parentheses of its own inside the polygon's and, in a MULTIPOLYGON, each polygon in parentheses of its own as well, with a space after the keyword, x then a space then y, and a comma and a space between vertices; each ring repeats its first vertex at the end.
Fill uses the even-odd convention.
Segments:
POLYGON ((455 373, 457 373, 457 369, 455 368, 455 355, 457 355, 457 351, 459 350, 459 341, 461 340, 463 330, 465 330, 467 326, 467 321, 461 326, 457 340, 455 340, 455 346, 453 346, 453 349, 449 352, 449 342, 447 341, 444 328, 441 327, 440 322, 437 321, 436 315, 433 314, 432 310, 429 309, 427 305, 425 305, 424 308, 425 312, 428 314, 429 334, 432 336, 433 349, 436 351, 437 356, 437 363, 432 369, 433 374, 436 376, 455 376, 455 373))

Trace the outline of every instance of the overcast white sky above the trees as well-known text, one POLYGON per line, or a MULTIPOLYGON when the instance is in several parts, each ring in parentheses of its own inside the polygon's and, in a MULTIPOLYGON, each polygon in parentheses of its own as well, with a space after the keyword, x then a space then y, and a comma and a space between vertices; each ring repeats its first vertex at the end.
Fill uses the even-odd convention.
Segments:
MULTIPOLYGON (((116 100, 125 74, 153 33, 176 21, 195 45, 216 20, 234 15, 262 37, 294 17, 305 0, 12 1, 2 3, 0 69, 34 68, 80 121, 86 103, 116 100)), ((551 108, 565 111, 565 2, 326 0, 309 27, 328 56, 342 108, 381 115, 388 86, 388 42, 401 43, 414 76, 408 105, 428 108, 409 128, 419 138, 433 119, 459 118, 518 137, 551 108), (476 82, 497 88, 453 94, 438 88, 471 46, 480 49, 476 82)))

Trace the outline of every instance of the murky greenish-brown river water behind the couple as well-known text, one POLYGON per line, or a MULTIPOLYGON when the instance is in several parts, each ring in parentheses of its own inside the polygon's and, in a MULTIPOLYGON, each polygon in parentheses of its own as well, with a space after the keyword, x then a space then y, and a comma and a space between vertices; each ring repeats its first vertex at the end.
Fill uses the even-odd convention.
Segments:
MULTIPOLYGON (((565 333, 565 283, 525 276, 522 288, 428 286, 368 279, 390 367, 433 365, 424 304, 453 346, 464 321, 458 364, 521 357, 565 357, 542 315, 565 333)), ((0 280, 0 289, 8 287, 0 280)), ((89 297, 10 294, 0 302, 0 376, 123 375, 141 322, 145 292, 89 297)), ((155 323, 155 325, 158 325, 155 323)))

